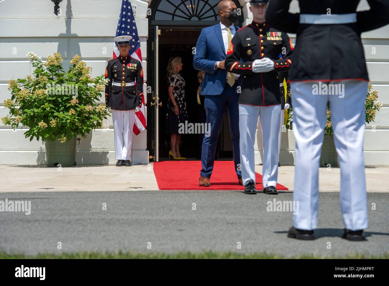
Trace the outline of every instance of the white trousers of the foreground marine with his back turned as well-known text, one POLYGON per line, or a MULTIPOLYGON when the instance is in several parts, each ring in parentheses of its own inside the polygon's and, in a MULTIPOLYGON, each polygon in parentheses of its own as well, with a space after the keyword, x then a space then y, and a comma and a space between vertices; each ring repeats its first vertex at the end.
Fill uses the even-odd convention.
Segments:
POLYGON ((334 142, 340 163, 340 207, 345 228, 368 227, 367 194, 363 158, 365 126, 364 100, 368 82, 357 80, 321 82, 340 84, 343 94, 314 94, 319 82, 291 82, 294 157, 293 200, 299 212, 293 215, 293 226, 303 230, 317 228, 319 202, 319 161, 327 117, 331 110, 334 142))

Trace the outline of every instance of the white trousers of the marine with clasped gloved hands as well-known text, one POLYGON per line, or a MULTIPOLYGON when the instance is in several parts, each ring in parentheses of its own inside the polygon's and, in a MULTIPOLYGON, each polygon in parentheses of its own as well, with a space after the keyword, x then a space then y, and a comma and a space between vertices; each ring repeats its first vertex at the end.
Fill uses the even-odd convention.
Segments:
POLYGON ((249 181, 255 184, 254 142, 258 116, 262 129, 263 188, 277 185, 280 111, 280 104, 270 106, 239 104, 240 165, 244 186, 249 181))

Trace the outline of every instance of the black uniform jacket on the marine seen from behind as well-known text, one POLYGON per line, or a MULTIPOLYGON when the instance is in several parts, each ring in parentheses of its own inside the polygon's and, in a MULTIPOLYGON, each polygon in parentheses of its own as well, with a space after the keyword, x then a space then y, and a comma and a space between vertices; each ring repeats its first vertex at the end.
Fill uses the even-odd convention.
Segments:
MULTIPOLYGON (((300 24, 300 14, 289 13, 292 0, 272 0, 266 9, 269 25, 296 33, 293 67, 288 81, 368 81, 361 32, 389 23, 389 1, 368 0, 370 10, 357 12, 357 22, 347 24, 300 24)), ((355 13, 359 0, 300 0, 301 14, 355 13)))

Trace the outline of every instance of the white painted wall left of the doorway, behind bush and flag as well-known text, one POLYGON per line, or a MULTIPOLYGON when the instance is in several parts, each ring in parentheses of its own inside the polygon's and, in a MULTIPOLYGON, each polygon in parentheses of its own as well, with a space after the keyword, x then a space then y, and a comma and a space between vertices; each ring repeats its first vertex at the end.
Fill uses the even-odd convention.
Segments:
MULTIPOLYGON (((5 0, 0 2, 0 118, 9 114, 3 102, 11 95, 10 79, 32 73, 26 59, 33 51, 43 60, 54 52, 61 53, 63 66, 68 68, 72 56, 79 54, 92 67, 92 76, 105 71, 112 58, 121 0, 64 0, 61 15, 56 16, 49 0, 5 0)), ((135 21, 141 41, 142 65, 147 70, 146 40, 147 3, 132 0, 135 21)), ((147 81, 147 73, 144 73, 147 81)), ((146 84, 144 84, 144 90, 146 84)), ((102 94, 101 102, 105 103, 102 94)), ((42 141, 25 139, 25 128, 14 131, 0 122, 0 164, 45 164, 42 141)), ((81 137, 81 136, 80 136, 81 137)), ((133 135, 133 162, 148 163, 146 131, 133 135)), ((105 120, 104 129, 96 129, 77 146, 77 163, 116 163, 112 118, 105 120)))

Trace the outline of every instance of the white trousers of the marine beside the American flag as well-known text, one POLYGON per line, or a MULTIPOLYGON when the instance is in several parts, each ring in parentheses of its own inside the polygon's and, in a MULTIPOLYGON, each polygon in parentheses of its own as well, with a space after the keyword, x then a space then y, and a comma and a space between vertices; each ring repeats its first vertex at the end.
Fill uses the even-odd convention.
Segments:
POLYGON ((114 110, 112 121, 114 122, 115 158, 116 160, 131 160, 132 128, 135 122, 135 110, 114 110))

